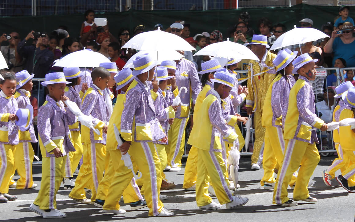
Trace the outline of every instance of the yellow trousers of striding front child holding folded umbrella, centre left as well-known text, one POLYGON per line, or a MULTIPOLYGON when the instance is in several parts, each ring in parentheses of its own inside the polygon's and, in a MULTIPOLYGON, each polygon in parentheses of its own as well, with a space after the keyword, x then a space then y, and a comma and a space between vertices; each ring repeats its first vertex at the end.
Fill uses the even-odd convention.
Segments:
MULTIPOLYGON (((152 142, 132 142, 128 153, 131 156, 134 169, 140 170, 146 193, 144 195, 147 206, 149 207, 149 216, 157 216, 163 210, 163 203, 159 199, 160 186, 162 184, 161 164, 154 143, 152 142)), ((111 153, 112 155, 112 153, 111 153)), ((121 198, 124 190, 129 186, 133 178, 131 169, 125 166, 124 161, 120 161, 118 169, 112 179, 109 187, 109 194, 105 200, 103 209, 119 210, 118 200, 121 198)))

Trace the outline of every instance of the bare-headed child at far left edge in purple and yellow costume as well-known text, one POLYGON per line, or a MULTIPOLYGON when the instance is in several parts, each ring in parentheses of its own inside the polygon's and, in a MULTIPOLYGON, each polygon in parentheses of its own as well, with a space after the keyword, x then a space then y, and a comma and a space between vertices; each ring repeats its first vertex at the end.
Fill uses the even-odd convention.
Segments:
POLYGON ((13 175, 14 154, 18 144, 18 126, 14 123, 17 102, 15 99, 16 78, 12 73, 2 73, 0 79, 0 202, 16 200, 9 195, 9 182, 13 175))

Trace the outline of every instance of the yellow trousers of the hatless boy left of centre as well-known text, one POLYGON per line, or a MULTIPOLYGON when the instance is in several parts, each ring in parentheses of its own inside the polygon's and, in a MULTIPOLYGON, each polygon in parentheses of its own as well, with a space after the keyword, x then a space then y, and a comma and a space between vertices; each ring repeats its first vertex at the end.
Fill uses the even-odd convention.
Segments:
POLYGON ((95 201, 97 188, 105 170, 105 145, 102 143, 84 143, 83 164, 75 181, 75 187, 69 196, 75 199, 85 199, 84 188, 92 189, 91 201, 95 201))

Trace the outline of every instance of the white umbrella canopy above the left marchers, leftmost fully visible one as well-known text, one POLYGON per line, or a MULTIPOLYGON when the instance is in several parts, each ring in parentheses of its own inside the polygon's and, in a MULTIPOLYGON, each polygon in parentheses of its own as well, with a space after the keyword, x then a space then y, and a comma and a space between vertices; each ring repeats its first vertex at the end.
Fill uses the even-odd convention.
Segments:
POLYGON ((54 66, 58 67, 99 67, 100 63, 111 62, 108 58, 99 52, 83 49, 72 52, 59 59, 54 66))

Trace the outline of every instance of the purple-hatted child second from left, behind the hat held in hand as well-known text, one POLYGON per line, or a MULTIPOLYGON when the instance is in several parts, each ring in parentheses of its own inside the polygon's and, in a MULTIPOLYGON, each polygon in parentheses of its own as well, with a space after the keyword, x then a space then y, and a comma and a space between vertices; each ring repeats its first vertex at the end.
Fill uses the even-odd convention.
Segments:
MULTIPOLYGON (((31 106, 32 78, 27 70, 22 70, 16 73, 16 93, 15 98, 19 109, 25 109, 28 105, 31 106)), ((33 109, 33 107, 32 107, 33 109)), ((15 166, 20 179, 16 182, 17 189, 36 188, 37 184, 33 183, 32 178, 32 162, 34 158, 34 150, 31 143, 37 143, 36 135, 34 134, 33 122, 29 128, 19 127, 19 141, 15 151, 15 166)))

